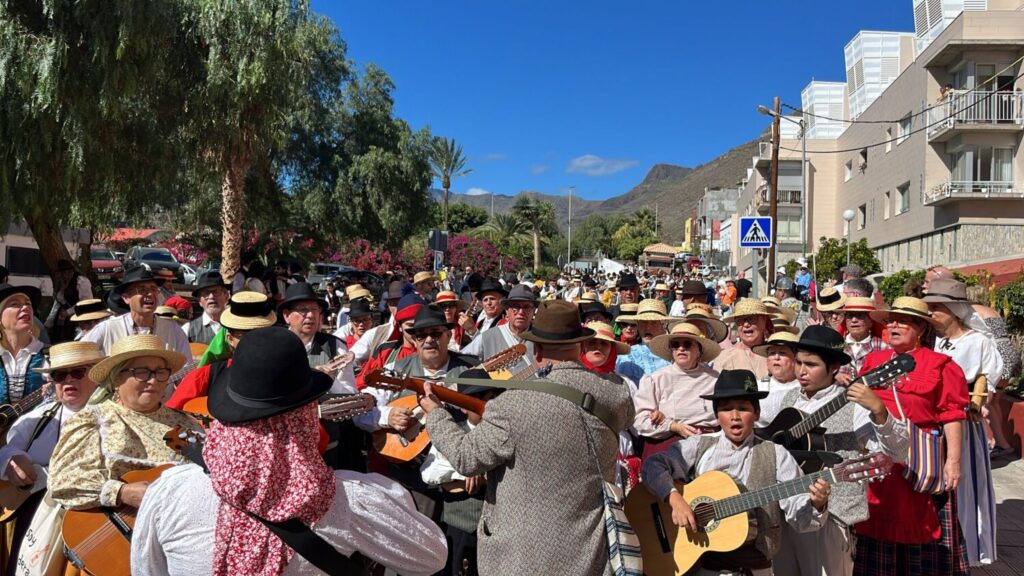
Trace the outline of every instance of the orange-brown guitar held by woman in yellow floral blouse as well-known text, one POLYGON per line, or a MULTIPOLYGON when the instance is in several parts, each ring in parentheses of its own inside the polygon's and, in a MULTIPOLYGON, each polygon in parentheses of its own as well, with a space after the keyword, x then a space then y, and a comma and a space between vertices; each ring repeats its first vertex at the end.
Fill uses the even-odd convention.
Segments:
MULTIPOLYGON (((164 435, 168 447, 189 458, 195 456, 197 447, 202 446, 203 438, 202 433, 180 427, 171 428, 164 435)), ((153 482, 174 465, 168 463, 130 471, 121 480, 125 483, 153 482)), ((131 533, 137 511, 131 506, 68 510, 60 529, 68 560, 86 574, 131 576, 131 533)))

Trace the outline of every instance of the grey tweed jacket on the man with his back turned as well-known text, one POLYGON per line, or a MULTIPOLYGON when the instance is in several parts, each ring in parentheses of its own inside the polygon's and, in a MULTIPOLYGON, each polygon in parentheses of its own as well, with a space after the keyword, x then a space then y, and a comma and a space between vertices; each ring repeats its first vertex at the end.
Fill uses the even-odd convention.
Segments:
POLYGON ((480 574, 611 574, 601 479, 587 433, 603 480, 613 482, 617 435, 633 422, 633 401, 626 384, 575 362, 555 363, 547 379, 593 395, 614 414, 613 429, 566 400, 527 390, 488 402, 470 431, 445 410, 427 415, 434 446, 460 474, 487 475, 477 527, 480 574))

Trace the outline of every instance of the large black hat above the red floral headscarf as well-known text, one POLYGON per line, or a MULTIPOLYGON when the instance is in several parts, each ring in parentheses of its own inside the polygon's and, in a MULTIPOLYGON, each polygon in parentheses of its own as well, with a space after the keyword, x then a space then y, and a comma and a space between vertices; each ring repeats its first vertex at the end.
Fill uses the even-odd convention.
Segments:
POLYGON ((210 415, 239 423, 267 418, 324 396, 333 380, 309 368, 302 340, 287 328, 253 330, 240 342, 227 376, 210 384, 210 415))

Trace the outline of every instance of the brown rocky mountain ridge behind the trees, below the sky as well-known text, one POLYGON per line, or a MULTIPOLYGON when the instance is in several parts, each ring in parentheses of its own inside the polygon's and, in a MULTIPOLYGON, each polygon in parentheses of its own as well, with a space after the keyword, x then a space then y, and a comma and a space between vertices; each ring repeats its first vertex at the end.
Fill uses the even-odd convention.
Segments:
MULTIPOLYGON (((647 171, 644 179, 626 194, 614 196, 604 201, 572 198, 572 221, 580 221, 593 212, 628 214, 641 208, 657 207, 660 222, 662 239, 678 243, 683 236, 684 221, 693 214, 697 200, 703 194, 705 188, 735 187, 746 175, 751 166, 751 158, 758 154, 757 139, 737 146, 714 160, 686 168, 672 164, 655 164, 647 171)), ((440 191, 434 191, 440 198, 440 191)), ((518 196, 536 195, 545 202, 555 206, 555 214, 559 225, 564 228, 568 216, 568 198, 536 192, 520 192, 516 196, 496 194, 494 207, 496 213, 511 209, 518 196)), ((473 206, 490 209, 490 195, 469 196, 452 194, 449 202, 465 202, 473 206)))

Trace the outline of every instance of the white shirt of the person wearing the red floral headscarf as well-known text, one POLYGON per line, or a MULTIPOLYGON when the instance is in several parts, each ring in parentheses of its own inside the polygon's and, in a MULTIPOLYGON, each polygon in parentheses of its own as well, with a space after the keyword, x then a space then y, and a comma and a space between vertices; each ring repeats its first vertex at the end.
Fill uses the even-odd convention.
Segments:
MULTIPOLYGON (((380 475, 335 470, 334 504, 313 531, 345 556, 362 556, 406 576, 444 567, 444 534, 400 485, 380 475)), ((212 572, 219 498, 202 468, 175 466, 150 485, 135 520, 131 544, 134 576, 203 576, 212 572)), ((319 575, 299 554, 285 576, 319 575)))

